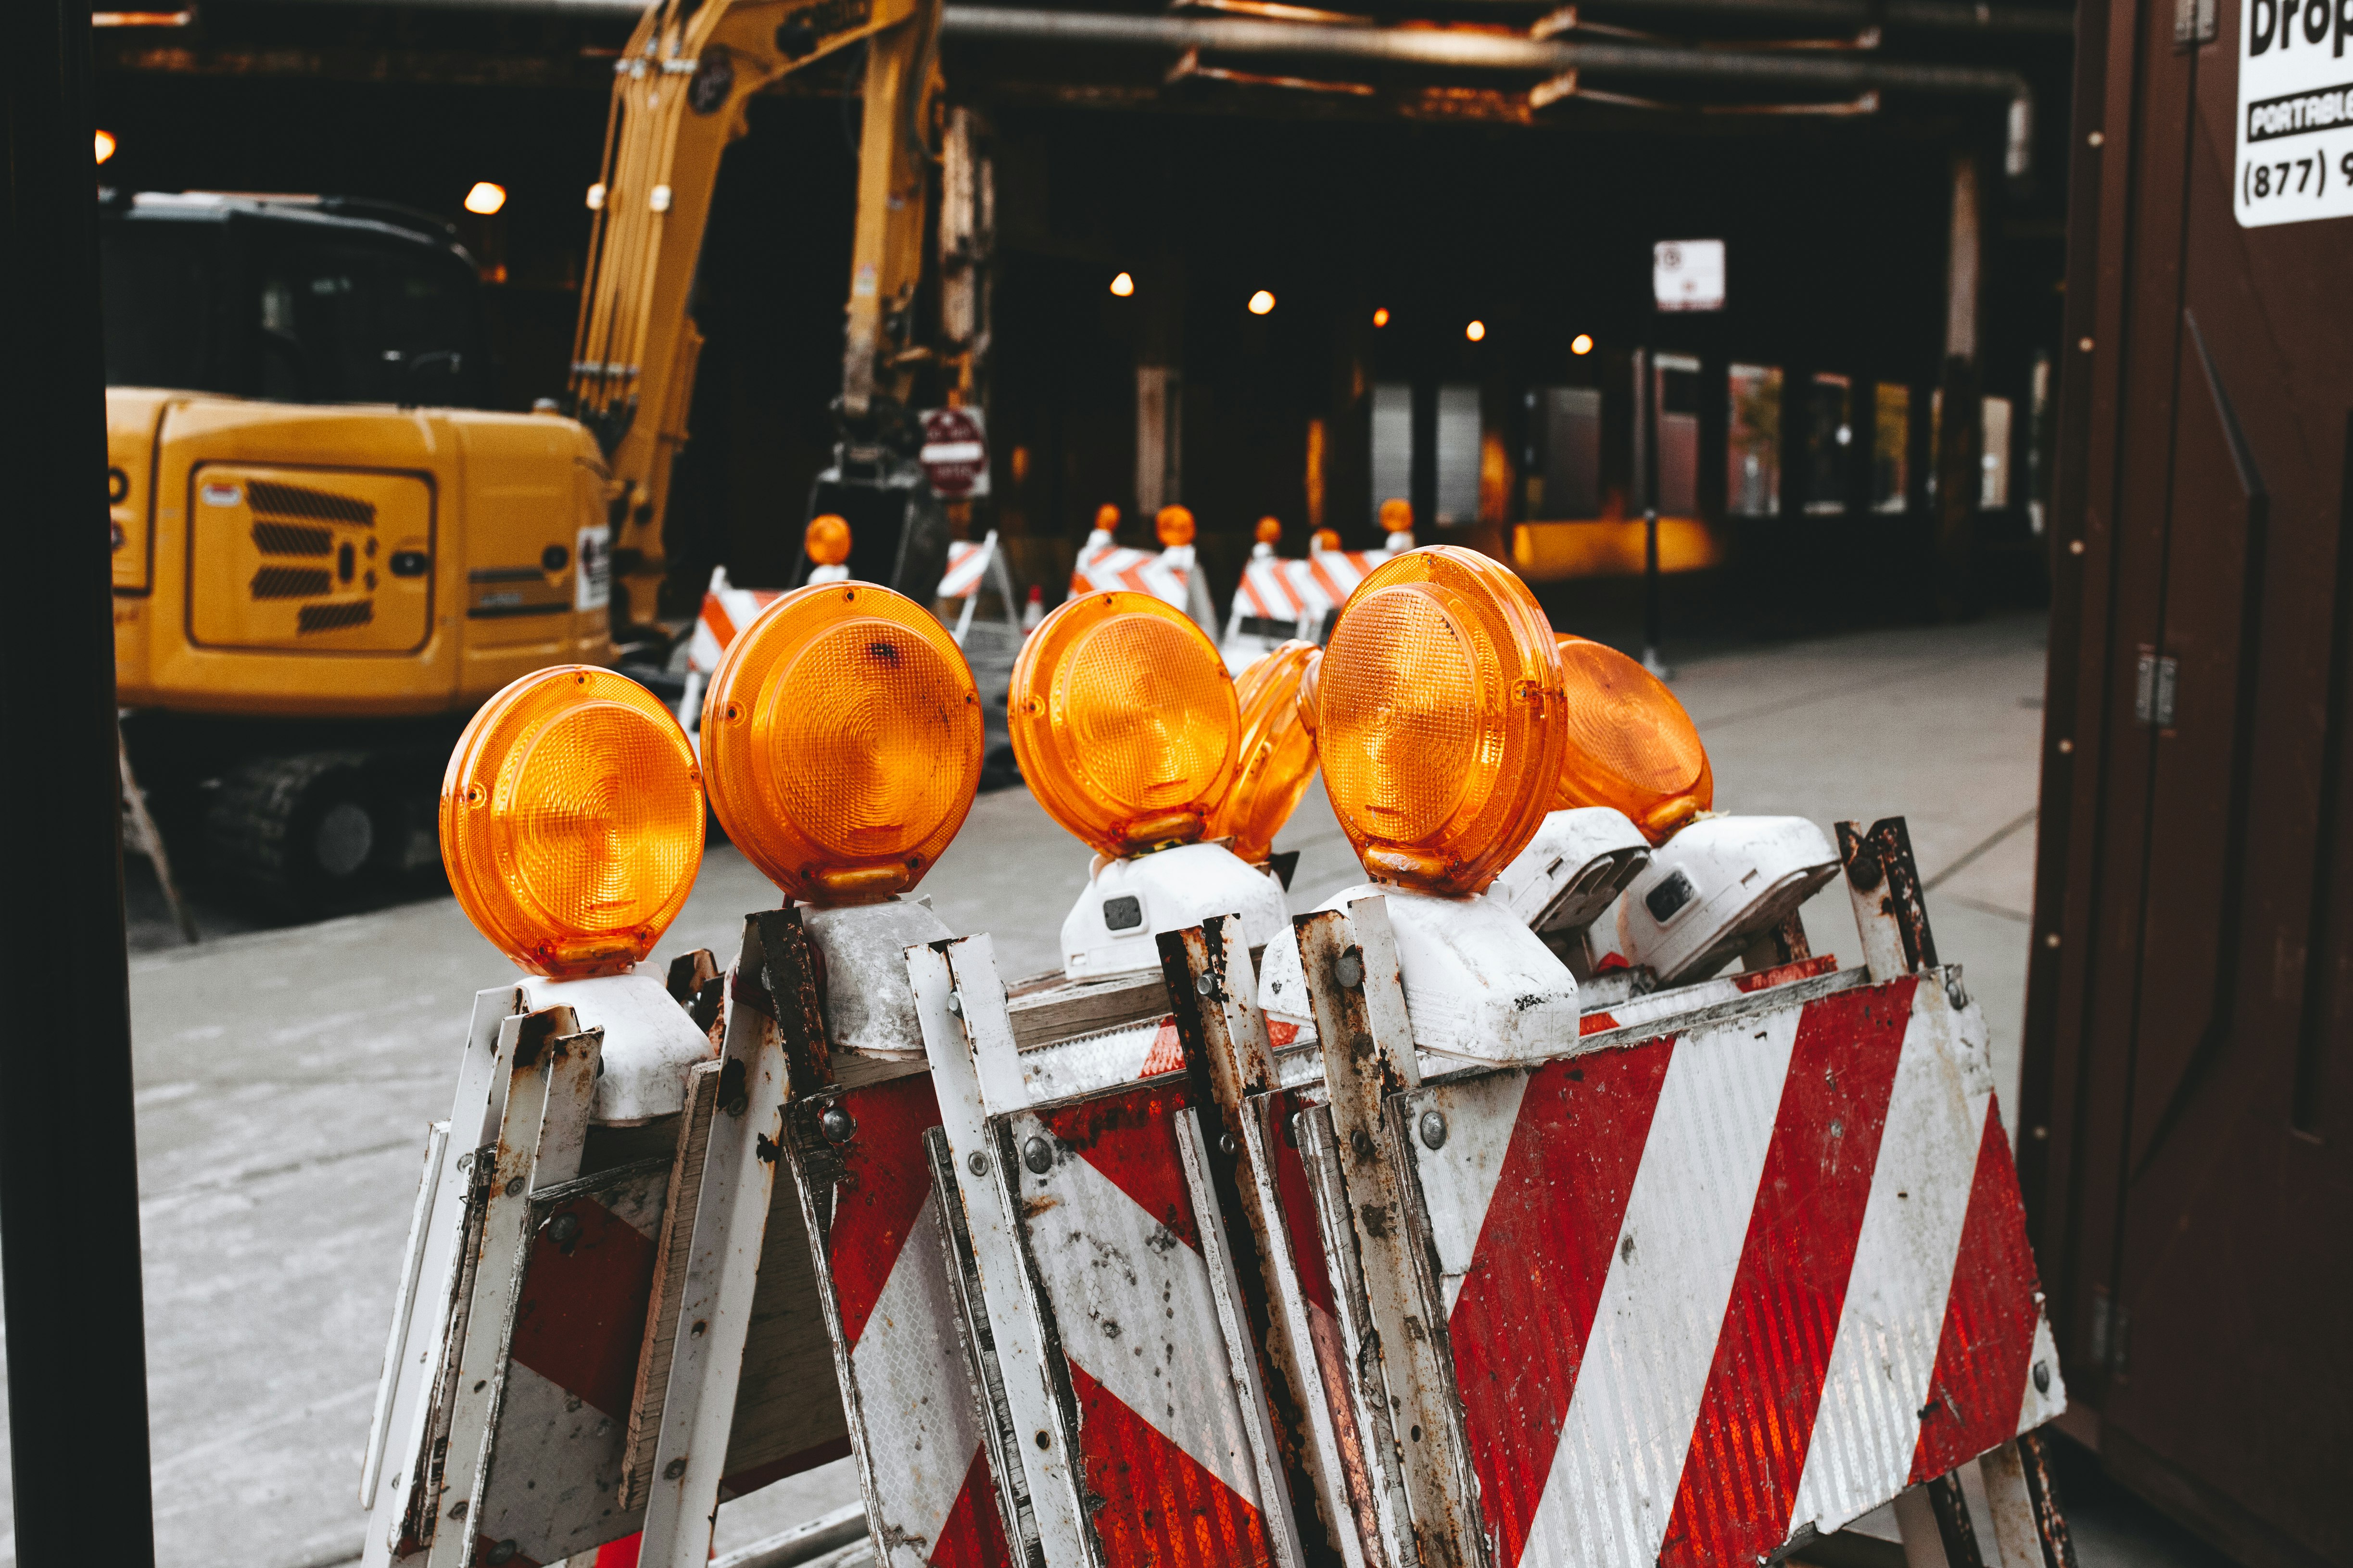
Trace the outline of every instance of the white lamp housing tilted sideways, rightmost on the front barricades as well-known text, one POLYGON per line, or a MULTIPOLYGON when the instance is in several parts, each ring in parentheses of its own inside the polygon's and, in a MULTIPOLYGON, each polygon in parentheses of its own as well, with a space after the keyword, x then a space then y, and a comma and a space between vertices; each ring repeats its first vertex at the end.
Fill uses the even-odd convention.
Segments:
POLYGON ((1659 985, 1706 980, 1835 875, 1838 851, 1802 816, 1699 818, 1586 926, 1586 957, 1647 964, 1659 985))

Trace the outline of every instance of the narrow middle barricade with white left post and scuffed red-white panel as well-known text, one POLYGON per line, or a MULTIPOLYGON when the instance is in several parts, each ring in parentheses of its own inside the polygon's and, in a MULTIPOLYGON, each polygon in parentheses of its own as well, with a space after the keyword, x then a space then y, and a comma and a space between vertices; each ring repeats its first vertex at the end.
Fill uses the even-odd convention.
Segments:
POLYGON ((1042 1561, 1297 1568, 1191 1084, 1033 1103, 988 938, 908 971, 1042 1561))

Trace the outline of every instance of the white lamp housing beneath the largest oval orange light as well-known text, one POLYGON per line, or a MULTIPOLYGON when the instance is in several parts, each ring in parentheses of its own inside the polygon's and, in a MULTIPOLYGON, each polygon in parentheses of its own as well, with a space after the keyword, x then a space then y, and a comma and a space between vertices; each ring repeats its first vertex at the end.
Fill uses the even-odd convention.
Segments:
MULTIPOLYGON (((1537 940, 1508 905, 1489 896, 1440 898, 1360 882, 1318 905, 1346 910, 1386 898, 1405 980, 1414 1046, 1482 1063, 1522 1063, 1577 1039, 1577 976, 1537 940)), ((1268 943, 1259 1009, 1313 1020, 1299 943, 1268 943)))

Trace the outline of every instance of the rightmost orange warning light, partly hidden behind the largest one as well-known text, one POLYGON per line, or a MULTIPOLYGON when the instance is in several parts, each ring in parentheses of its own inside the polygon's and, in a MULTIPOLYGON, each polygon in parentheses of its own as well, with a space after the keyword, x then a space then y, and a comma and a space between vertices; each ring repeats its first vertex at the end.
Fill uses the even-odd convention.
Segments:
POLYGON ((1560 677, 1567 745, 1553 811, 1614 806, 1664 844, 1715 804, 1708 748, 1666 682, 1612 646, 1567 635, 1560 677))

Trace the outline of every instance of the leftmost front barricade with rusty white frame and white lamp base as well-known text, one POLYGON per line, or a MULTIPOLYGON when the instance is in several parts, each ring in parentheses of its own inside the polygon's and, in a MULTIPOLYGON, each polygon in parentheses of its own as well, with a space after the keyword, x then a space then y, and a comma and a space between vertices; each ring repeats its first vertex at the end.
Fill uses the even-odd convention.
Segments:
POLYGON ((689 1568, 722 1495, 847 1450, 800 1206, 774 1182, 762 919, 718 1044, 708 952, 668 987, 475 999, 386 1347, 365 1563, 553 1563, 642 1528, 647 1568, 689 1568))

